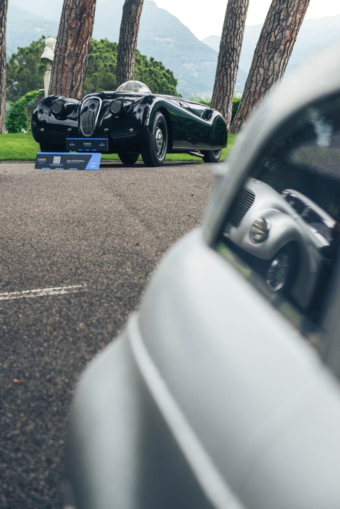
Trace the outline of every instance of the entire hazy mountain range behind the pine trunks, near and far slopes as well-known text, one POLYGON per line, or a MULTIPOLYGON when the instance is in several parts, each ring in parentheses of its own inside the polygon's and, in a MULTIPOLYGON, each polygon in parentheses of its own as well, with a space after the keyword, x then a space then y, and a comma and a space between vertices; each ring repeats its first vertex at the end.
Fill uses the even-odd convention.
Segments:
MULTIPOLYGON (((97 0, 93 37, 118 41, 124 0, 97 0)), ((27 46, 41 35, 56 35, 63 0, 9 0, 7 50, 27 46)), ((262 25, 245 30, 236 91, 242 92, 262 25)), ((299 65, 340 33, 340 15, 305 19, 295 44, 289 69, 299 65)), ((184 97, 209 97, 216 73, 220 37, 199 41, 187 26, 154 2, 144 2, 138 49, 174 72, 177 90, 184 97)))

